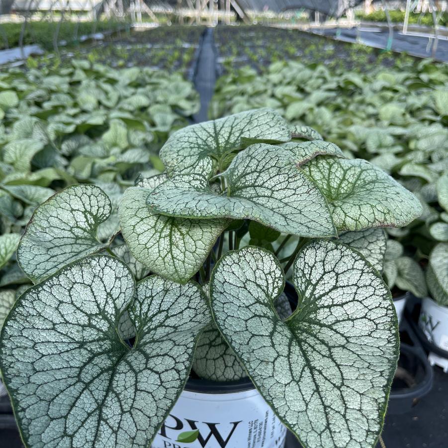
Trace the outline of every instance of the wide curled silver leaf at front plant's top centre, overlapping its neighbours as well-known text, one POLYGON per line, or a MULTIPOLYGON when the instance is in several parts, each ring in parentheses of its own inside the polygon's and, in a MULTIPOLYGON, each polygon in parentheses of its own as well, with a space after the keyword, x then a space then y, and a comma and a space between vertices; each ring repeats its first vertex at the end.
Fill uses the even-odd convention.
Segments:
POLYGON ((154 211, 191 219, 251 219, 280 232, 331 236, 335 229, 325 198, 297 170, 281 147, 252 145, 222 174, 229 195, 213 192, 200 174, 179 175, 154 189, 147 203, 154 211))

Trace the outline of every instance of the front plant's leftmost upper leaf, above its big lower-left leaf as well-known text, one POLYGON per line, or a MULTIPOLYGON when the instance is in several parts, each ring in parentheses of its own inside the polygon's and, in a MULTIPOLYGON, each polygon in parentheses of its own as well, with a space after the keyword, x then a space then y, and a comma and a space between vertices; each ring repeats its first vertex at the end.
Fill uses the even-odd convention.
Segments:
POLYGON ((39 205, 26 226, 17 261, 34 282, 107 244, 96 231, 111 213, 107 195, 95 185, 71 185, 39 205))

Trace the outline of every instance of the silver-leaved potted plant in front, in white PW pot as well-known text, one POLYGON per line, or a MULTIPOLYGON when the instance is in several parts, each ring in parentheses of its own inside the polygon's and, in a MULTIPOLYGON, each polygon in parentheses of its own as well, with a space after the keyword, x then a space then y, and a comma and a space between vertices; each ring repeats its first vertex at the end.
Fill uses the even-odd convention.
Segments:
POLYGON ((125 190, 107 241, 98 186, 37 207, 17 249, 35 285, 0 338, 26 446, 278 447, 285 427, 304 447, 375 446, 399 342, 374 236, 421 205, 368 162, 295 137, 270 109, 179 130, 165 173, 125 190))

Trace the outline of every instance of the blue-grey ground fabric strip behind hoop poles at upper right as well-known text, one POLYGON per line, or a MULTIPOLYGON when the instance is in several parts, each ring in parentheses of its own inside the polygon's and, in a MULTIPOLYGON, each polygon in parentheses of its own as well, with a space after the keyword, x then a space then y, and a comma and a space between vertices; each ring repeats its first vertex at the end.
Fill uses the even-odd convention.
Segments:
MULTIPOLYGON (((346 42, 357 42, 357 28, 320 28, 314 31, 317 34, 335 37, 346 42)), ((389 31, 384 28, 366 27, 360 28, 359 37, 362 43, 375 48, 387 47, 389 31)), ((394 30, 392 50, 408 53, 421 58, 432 57, 432 43, 434 38, 428 35, 413 35, 411 33, 403 34, 401 31, 394 30)), ((446 37, 439 37, 435 59, 448 62, 448 40, 446 37)))

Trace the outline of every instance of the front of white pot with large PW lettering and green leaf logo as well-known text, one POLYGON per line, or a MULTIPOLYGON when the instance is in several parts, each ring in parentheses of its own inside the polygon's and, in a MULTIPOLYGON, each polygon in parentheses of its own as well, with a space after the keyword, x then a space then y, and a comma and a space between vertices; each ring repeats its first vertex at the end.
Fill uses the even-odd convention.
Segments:
POLYGON ((183 391, 151 448, 283 448, 286 428, 256 389, 183 391))

